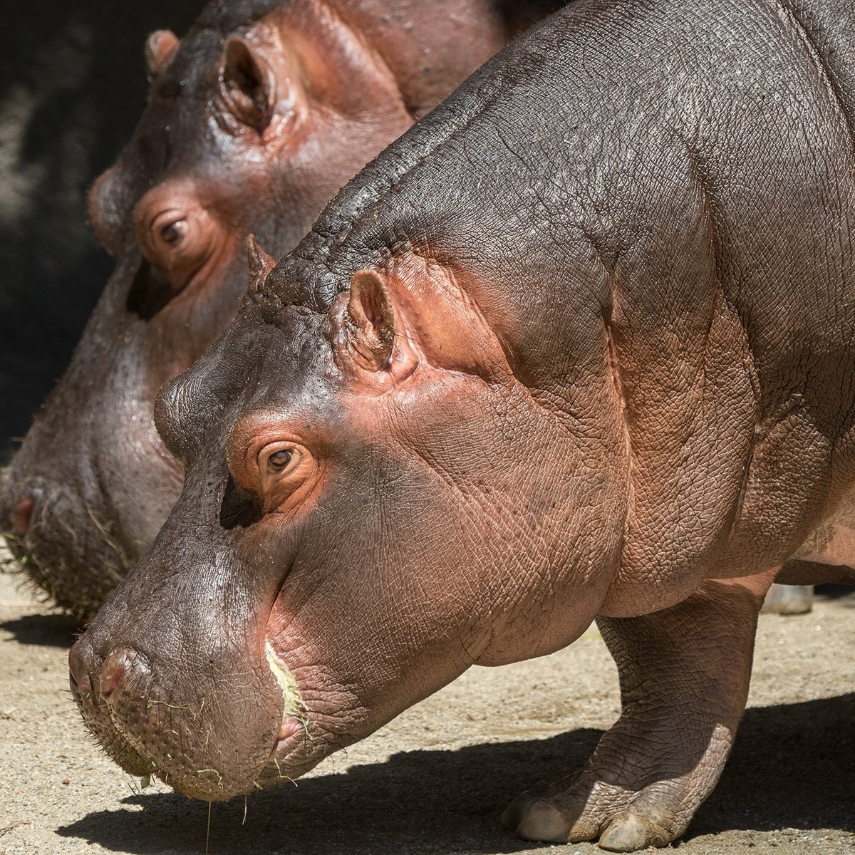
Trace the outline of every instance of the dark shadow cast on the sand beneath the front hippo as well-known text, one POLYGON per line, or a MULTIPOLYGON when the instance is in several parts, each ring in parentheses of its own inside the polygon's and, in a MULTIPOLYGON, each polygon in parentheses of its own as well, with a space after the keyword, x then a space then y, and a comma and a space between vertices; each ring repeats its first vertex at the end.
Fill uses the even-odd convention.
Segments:
MULTIPOLYGON (((855 694, 749 710, 722 781, 686 839, 732 829, 855 830, 853 719, 855 694)), ((398 753, 257 793, 244 825, 242 799, 214 805, 210 852, 526 851, 536 845, 498 825, 504 805, 523 789, 578 769, 599 734, 581 728, 548 739, 398 753)), ((132 809, 93 812, 58 834, 134 855, 204 852, 204 803, 156 793, 125 804, 132 809)))

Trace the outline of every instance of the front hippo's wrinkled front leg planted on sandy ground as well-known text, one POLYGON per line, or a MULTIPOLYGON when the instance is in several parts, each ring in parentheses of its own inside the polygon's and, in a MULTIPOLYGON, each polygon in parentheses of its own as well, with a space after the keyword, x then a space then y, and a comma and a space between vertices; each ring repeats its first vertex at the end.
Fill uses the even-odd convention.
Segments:
POLYGON ((706 581, 673 608, 598 618, 622 714, 579 775, 522 793, 502 822, 527 840, 666 846, 716 786, 745 709, 754 634, 774 574, 706 581))

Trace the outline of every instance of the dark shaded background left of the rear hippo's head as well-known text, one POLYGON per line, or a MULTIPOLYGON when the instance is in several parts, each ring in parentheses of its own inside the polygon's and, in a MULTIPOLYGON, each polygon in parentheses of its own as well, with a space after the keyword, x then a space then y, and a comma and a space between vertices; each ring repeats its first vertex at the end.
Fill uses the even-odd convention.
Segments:
MULTIPOLYGON (((203 0, 34 0, 0 27, 0 463, 68 364, 111 268, 86 192, 144 108, 144 38, 203 0)), ((61 442, 62 438, 57 437, 61 442)))

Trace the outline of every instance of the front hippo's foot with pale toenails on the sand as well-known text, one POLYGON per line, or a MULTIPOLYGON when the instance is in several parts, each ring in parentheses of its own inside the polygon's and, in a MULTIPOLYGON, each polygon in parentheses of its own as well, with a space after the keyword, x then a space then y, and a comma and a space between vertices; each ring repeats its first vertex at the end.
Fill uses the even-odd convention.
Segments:
POLYGON ((607 785, 589 771, 566 789, 562 786, 559 782, 541 793, 522 793, 505 809, 504 827, 524 840, 597 840, 609 852, 635 852, 668 846, 691 819, 675 793, 666 796, 661 782, 633 791, 627 785, 607 785))

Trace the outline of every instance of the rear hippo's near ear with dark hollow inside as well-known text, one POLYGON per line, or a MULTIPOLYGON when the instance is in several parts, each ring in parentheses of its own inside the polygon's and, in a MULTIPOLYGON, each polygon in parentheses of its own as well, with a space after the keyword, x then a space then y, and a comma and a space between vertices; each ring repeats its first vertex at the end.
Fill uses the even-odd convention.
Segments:
POLYGON ((270 124, 275 100, 273 73, 243 38, 226 43, 220 80, 222 96, 233 115, 262 133, 270 124))

